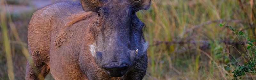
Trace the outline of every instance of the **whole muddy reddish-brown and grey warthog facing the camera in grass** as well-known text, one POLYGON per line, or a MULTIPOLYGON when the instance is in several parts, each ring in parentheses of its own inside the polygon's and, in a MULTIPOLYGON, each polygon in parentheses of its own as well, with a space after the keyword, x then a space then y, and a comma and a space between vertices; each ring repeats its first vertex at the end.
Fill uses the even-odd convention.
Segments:
POLYGON ((28 26, 26 79, 141 80, 148 42, 139 10, 151 0, 81 0, 48 5, 28 26))

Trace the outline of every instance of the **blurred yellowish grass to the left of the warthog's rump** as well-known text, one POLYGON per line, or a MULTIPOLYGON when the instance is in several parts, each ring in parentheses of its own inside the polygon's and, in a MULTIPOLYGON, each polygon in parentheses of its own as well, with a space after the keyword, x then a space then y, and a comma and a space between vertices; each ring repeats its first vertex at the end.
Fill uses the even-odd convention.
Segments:
MULTIPOLYGON (((8 8, 5 6, 7 2, 5 0, 1 0, 1 29, 2 34, 1 40, 3 44, 0 50, 1 53, 5 53, 5 55, 1 55, 0 63, 6 64, 0 66, 0 79, 24 79, 25 78, 25 63, 28 57, 28 48, 26 41, 27 34, 27 24, 31 17, 29 12, 20 13, 20 15, 27 15, 24 17, 13 17, 14 14, 9 13, 8 8), (27 17, 27 18, 26 18, 27 17), (14 20, 12 20, 14 19, 14 20), (13 22, 15 21, 15 23, 13 22), (24 23, 25 24, 24 24, 24 23), (17 25, 17 23, 21 23, 17 25), (17 30, 19 29, 19 31, 17 30), (23 32, 25 30, 25 33, 23 32), (22 38, 20 38, 22 36, 22 38), (21 54, 20 54, 21 53, 21 54), (8 73, 6 73, 8 72, 8 73)), ((31 12, 30 12, 31 14, 31 12)))

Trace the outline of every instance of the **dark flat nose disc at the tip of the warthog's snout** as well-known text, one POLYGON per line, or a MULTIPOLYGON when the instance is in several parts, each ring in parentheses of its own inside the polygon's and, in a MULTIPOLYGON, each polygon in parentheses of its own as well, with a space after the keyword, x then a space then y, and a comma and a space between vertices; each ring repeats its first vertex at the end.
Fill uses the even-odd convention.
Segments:
POLYGON ((104 71, 111 77, 121 77, 124 76, 124 74, 128 70, 127 65, 111 65, 111 66, 103 66, 104 71))

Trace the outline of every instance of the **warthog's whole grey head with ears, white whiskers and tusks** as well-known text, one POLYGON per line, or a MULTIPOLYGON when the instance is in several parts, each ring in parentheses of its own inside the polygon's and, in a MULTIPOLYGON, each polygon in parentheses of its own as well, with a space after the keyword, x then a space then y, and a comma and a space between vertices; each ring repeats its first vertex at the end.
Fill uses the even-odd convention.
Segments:
POLYGON ((90 27, 94 44, 89 45, 97 65, 109 76, 124 76, 146 54, 148 43, 142 21, 136 16, 151 0, 81 0, 83 10, 96 12, 90 27))

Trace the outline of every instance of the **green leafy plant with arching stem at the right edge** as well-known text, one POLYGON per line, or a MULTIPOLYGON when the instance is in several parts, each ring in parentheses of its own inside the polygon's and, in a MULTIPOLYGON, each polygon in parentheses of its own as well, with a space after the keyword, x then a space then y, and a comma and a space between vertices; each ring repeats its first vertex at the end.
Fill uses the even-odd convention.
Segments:
MULTIPOLYGON (((232 31, 235 32, 236 35, 238 36, 243 36, 243 38, 246 40, 246 43, 249 44, 247 46, 247 49, 251 49, 252 51, 252 54, 254 54, 254 57, 253 57, 253 60, 250 60, 246 63, 244 63, 244 65, 238 67, 237 69, 235 69, 232 73, 234 73, 234 79, 233 80, 238 80, 238 77, 239 76, 243 76, 243 75, 246 75, 246 73, 252 73, 252 74, 256 74, 256 68, 255 68, 255 64, 256 64, 256 60, 254 60, 254 58, 256 57, 255 56, 255 53, 256 53, 256 46, 252 43, 254 42, 255 40, 251 40, 247 34, 245 34, 243 31, 238 31, 237 29, 233 28, 232 26, 229 26, 229 25, 225 25, 225 24, 219 24, 220 27, 224 26, 225 28, 229 28, 231 29, 232 31)), ((241 78, 241 77, 239 77, 241 78)))

